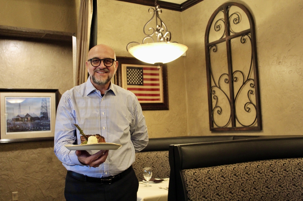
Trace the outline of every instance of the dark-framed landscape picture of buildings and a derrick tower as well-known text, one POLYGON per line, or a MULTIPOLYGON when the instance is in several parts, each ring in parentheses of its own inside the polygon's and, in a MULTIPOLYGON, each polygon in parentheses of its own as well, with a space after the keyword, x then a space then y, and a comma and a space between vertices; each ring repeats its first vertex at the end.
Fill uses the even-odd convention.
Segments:
POLYGON ((54 139, 58 89, 0 89, 0 142, 54 139))

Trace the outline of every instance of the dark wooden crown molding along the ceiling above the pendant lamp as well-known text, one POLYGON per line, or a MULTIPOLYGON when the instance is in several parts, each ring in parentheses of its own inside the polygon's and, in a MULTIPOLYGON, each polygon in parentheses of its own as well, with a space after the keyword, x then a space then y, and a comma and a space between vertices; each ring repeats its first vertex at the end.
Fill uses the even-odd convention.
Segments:
MULTIPOLYGON (((155 6, 155 3, 151 0, 116 0, 116 1, 129 2, 129 3, 140 4, 140 5, 152 6, 152 7, 155 6)), ((182 12, 201 1, 203 0, 187 0, 186 2, 183 2, 181 4, 164 2, 164 1, 157 1, 157 3, 160 5, 161 8, 182 12)))

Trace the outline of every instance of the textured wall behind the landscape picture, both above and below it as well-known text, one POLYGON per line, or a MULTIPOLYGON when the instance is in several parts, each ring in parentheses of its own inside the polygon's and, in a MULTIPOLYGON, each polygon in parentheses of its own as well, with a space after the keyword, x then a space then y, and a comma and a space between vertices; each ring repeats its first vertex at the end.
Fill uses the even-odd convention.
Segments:
MULTIPOLYGON (((72 45, 0 39, 0 88, 73 87, 72 45)), ((66 170, 54 142, 0 144, 0 200, 64 200, 66 170)))

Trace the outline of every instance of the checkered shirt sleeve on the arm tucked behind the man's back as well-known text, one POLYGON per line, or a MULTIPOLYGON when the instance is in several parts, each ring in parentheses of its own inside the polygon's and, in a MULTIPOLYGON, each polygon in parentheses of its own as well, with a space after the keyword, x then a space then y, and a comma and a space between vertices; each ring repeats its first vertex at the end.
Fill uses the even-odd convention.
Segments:
POLYGON ((133 120, 130 125, 130 132, 131 132, 131 140, 135 148, 135 152, 140 152, 142 149, 146 147, 148 144, 148 133, 147 133, 147 126, 145 123, 145 117, 142 113, 141 105, 134 96, 133 101, 133 120))

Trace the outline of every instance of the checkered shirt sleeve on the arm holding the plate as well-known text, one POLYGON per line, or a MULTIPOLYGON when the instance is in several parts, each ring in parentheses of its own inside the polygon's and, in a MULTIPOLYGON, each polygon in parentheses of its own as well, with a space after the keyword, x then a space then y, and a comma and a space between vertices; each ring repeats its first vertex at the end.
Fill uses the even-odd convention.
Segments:
POLYGON ((73 114, 71 99, 65 92, 59 102, 56 114, 54 152, 58 159, 66 165, 81 165, 76 151, 67 149, 64 145, 72 145, 76 141, 75 115, 73 114))

